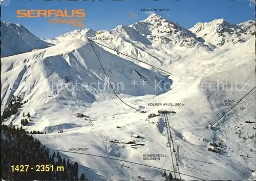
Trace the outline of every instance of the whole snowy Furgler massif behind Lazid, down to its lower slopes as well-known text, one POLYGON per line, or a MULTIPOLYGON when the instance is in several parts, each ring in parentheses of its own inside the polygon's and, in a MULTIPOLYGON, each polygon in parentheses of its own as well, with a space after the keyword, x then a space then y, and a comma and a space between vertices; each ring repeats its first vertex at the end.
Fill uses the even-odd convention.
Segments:
MULTIPOLYGON (((93 40, 126 55, 135 56, 154 66, 164 67, 166 71, 168 71, 170 64, 180 61, 183 56, 207 53, 215 48, 210 43, 204 43, 202 38, 197 38, 195 34, 176 22, 167 21, 157 14, 152 14, 130 26, 117 26, 111 31, 81 29, 45 41, 57 44, 72 38, 84 39, 86 36, 97 37, 98 39, 93 40)), ((122 58, 129 59, 146 69, 151 69, 151 66, 139 63, 108 48, 102 48, 122 58)))

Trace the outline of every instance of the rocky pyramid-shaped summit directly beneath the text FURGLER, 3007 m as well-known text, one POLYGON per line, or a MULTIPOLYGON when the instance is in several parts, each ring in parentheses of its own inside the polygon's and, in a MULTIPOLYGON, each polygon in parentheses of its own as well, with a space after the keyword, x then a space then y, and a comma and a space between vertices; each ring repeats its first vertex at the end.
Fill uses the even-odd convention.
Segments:
MULTIPOLYGON (((129 27, 152 40, 158 45, 168 44, 168 48, 197 48, 210 49, 203 44, 204 40, 197 38, 195 34, 181 27, 177 22, 168 21, 157 14, 148 16, 145 20, 139 21, 129 27)), ((184 49, 183 49, 184 50, 184 49)))

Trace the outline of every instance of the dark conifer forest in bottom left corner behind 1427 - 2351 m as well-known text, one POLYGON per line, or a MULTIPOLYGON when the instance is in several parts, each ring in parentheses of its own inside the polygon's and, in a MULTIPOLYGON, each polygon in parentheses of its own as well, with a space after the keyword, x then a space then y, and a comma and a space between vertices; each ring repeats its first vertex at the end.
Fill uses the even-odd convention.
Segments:
MULTIPOLYGON (((36 133, 37 131, 30 131, 30 133, 32 132, 36 133)), ((76 176, 78 174, 77 163, 71 164, 68 160, 66 165, 66 160, 63 159, 62 161, 60 156, 58 162, 55 163, 53 155, 49 154, 49 149, 42 145, 39 140, 33 139, 32 135, 28 135, 28 131, 14 126, 2 125, 2 133, 6 135, 6 139, 2 138, 2 178, 4 180, 78 180, 76 176), (31 170, 18 174, 10 169, 10 165, 17 163, 51 164, 54 166, 61 164, 60 166, 66 168, 61 173, 31 170)))

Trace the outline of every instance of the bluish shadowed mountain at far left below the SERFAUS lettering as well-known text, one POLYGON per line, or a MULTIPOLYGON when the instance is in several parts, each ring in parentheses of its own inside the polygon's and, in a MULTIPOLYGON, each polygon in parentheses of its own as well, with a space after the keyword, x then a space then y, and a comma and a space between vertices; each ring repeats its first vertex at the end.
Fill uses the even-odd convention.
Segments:
POLYGON ((21 24, 1 21, 1 57, 44 49, 51 44, 33 35, 21 24))

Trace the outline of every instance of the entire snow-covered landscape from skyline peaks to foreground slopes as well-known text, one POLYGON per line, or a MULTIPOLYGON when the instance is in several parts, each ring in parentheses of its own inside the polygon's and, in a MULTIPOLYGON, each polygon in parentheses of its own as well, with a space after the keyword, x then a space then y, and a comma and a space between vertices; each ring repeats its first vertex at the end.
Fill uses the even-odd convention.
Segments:
POLYGON ((22 112, 30 112, 24 128, 46 131, 33 136, 52 151, 88 148, 79 152, 113 158, 60 151, 78 162, 79 174, 90 180, 165 180, 161 169, 174 168, 164 116, 148 117, 165 109, 176 112, 168 120, 182 179, 255 180, 254 20, 231 25, 215 19, 188 30, 152 14, 111 31, 80 29, 52 39, 1 24, 1 112, 13 95, 28 100, 4 124, 20 126, 22 112), (123 102, 146 113, 121 102, 108 79, 123 102), (214 142, 221 143, 221 154, 208 151, 214 142), (143 159, 145 154, 166 157, 143 159))

